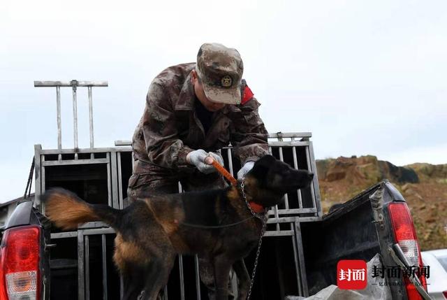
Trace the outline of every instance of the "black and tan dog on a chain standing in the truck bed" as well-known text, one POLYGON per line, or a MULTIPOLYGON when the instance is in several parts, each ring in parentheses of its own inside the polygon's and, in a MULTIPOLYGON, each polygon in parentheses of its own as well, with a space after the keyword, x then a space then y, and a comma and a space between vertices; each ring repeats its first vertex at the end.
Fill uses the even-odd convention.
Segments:
POLYGON ((237 299, 246 299, 250 278, 243 258, 258 244, 263 221, 253 217, 245 200, 269 208, 281 203, 287 192, 307 187, 313 176, 265 155, 242 187, 157 195, 137 199, 123 210, 89 204, 62 189, 41 198, 57 227, 76 229, 100 220, 115 229, 113 259, 124 279, 126 300, 156 299, 178 254, 197 254, 212 262, 217 300, 228 297, 233 266, 239 279, 237 299))

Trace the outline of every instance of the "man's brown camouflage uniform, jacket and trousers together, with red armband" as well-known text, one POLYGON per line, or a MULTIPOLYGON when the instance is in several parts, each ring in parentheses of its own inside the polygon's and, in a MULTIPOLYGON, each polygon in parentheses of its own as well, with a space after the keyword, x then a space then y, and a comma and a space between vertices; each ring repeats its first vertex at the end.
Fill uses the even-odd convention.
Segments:
POLYGON ((195 67, 196 63, 171 66, 149 87, 145 111, 133 135, 130 198, 178 192, 179 181, 187 191, 223 187, 225 183, 218 173, 200 173, 186 162, 192 150, 216 152, 231 143, 242 165, 268 152, 268 133, 258 115, 260 104, 245 81, 239 105, 228 104, 211 115, 203 115, 191 84, 195 67))

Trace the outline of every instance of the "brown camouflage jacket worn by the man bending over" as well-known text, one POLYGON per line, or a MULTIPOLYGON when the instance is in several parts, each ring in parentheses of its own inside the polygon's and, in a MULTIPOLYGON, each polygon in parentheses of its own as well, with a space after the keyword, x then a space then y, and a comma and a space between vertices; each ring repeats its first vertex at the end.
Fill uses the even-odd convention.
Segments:
MULTIPOLYGON (((228 143, 234 146, 242 164, 267 154, 268 132, 258 115, 260 103, 254 97, 244 104, 226 105, 214 113, 205 135, 194 106, 197 100, 191 71, 195 66, 195 63, 171 66, 152 81, 145 111, 133 134, 135 161, 181 171, 191 168, 186 155, 192 150, 216 151, 228 143)), ((242 80, 242 92, 246 86, 242 80)), ((138 164, 141 165, 145 164, 138 164)), ((145 170, 137 167, 134 172, 145 170)))

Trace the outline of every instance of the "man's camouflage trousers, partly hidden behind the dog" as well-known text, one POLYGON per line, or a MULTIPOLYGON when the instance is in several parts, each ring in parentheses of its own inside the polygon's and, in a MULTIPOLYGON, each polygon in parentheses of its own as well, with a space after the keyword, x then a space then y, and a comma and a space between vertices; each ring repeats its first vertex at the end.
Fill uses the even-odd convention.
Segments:
MULTIPOLYGON (((146 198, 154 194, 175 194, 179 192, 178 183, 182 184, 182 189, 186 192, 212 190, 226 186, 225 180, 218 173, 203 174, 192 173, 178 175, 168 172, 163 173, 133 173, 129 178, 129 187, 127 189, 128 201, 137 198, 146 198)), ((215 299, 214 287, 214 269, 208 259, 199 258, 200 279, 208 289, 210 300, 215 299)), ((233 294, 229 292, 228 299, 234 299, 233 294)))

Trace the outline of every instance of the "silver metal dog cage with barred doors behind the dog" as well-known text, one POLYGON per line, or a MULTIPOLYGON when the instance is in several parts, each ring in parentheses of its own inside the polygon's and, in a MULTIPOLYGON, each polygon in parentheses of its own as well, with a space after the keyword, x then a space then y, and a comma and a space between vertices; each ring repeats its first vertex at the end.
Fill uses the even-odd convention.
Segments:
MULTIPOLYGON (((107 203, 123 208, 126 189, 132 173, 133 159, 129 141, 116 141, 112 148, 94 148, 91 87, 107 86, 106 82, 35 82, 36 86, 56 86, 60 107, 61 86, 73 88, 74 148, 61 147, 60 109, 57 110, 58 148, 44 150, 35 145, 36 207, 45 213, 40 195, 51 187, 64 187, 89 203, 107 203), (80 84, 82 83, 82 85, 80 84), (89 89, 90 148, 78 148, 77 87, 89 89)), ((279 299, 276 295, 308 296, 301 222, 321 220, 320 195, 310 133, 277 133, 269 135, 269 152, 295 169, 315 173, 307 189, 287 194, 284 204, 272 208, 268 215, 263 250, 254 285, 254 299, 279 299), (291 264, 293 262, 293 264, 291 264), (272 289, 272 285, 275 285, 272 289), (268 288, 263 288, 268 286, 268 288), (270 292, 269 292, 270 291, 270 292), (272 292, 273 291, 273 292, 272 292), (274 293, 274 294, 272 294, 274 293)), ((221 150, 230 173, 240 169, 229 145, 221 150)), ((52 299, 120 299, 122 280, 112 264, 115 232, 101 222, 90 222, 77 231, 52 231, 51 290, 52 299), (73 298, 71 298, 71 295, 73 298)), ((246 259, 251 269, 254 257, 246 259)), ((232 276, 231 289, 237 292, 237 278, 232 276)), ((165 287, 164 299, 207 299, 198 275, 197 257, 179 256, 165 287), (177 271, 175 271, 177 269, 177 271)))

